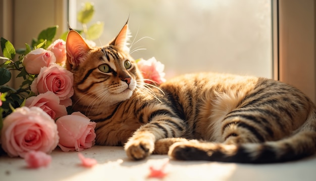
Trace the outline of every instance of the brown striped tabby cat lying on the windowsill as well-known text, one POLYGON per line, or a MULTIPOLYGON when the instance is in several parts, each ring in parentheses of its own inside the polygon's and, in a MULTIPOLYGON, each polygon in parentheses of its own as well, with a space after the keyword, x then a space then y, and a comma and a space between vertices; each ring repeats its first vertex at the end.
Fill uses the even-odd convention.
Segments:
POLYGON ((315 154, 316 106, 298 89, 220 73, 186 74, 149 88, 128 39, 128 23, 104 47, 90 47, 75 30, 67 36, 72 108, 96 122, 96 144, 124 146, 132 160, 169 154, 273 163, 315 154))

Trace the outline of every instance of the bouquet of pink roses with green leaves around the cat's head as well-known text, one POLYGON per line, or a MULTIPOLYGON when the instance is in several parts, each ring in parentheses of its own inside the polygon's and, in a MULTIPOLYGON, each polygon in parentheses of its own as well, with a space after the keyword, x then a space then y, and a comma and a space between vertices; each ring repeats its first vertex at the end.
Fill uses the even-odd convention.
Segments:
MULTIPOLYGON (((93 6, 90 5, 85 4, 79 12, 78 15, 89 15, 79 16, 81 23, 91 19, 93 6)), ((94 31, 86 32, 95 34, 97 26, 91 27, 94 31)), ((33 165, 37 157, 44 160, 42 165, 47 164, 45 160, 51 158, 46 159, 46 154, 57 146, 65 152, 82 151, 92 147, 96 137, 95 122, 80 112, 67 110, 71 108, 74 94, 73 73, 65 68, 67 32, 54 40, 57 28, 41 31, 31 45, 25 44, 25 49, 20 50, 9 40, 0 39, 3 52, 0 57, 0 144, 9 156, 20 156, 33 165), (17 54, 18 60, 14 61, 17 54), (16 78, 22 78, 18 89, 6 85, 12 79, 12 71, 18 72, 16 78)), ((146 83, 165 81, 164 65, 155 58, 139 59, 137 66, 146 83)), ((37 160, 35 165, 38 164, 37 160)))

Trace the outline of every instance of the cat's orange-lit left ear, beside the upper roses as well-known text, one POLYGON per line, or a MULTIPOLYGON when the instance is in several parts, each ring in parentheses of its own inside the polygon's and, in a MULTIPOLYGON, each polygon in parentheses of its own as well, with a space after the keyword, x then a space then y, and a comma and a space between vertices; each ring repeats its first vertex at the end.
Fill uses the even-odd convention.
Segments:
POLYGON ((77 31, 70 30, 66 39, 67 69, 75 69, 80 65, 85 60, 89 50, 90 47, 82 36, 77 31))

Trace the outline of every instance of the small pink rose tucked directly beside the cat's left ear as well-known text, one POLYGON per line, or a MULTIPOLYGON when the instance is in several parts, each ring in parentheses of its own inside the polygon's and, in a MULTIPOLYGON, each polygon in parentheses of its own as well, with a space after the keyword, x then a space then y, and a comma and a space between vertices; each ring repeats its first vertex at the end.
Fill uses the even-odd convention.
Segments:
POLYGON ((67 55, 66 55, 66 42, 64 40, 57 39, 56 41, 50 44, 47 50, 54 53, 56 57, 56 63, 60 64, 61 66, 65 65, 67 55))

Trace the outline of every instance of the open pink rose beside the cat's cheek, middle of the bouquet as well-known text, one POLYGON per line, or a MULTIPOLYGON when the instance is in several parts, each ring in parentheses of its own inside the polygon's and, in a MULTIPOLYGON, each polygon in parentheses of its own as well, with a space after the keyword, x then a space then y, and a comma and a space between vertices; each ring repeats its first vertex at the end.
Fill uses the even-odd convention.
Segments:
POLYGON ((60 104, 66 107, 72 104, 71 97, 74 94, 73 73, 58 64, 50 64, 42 67, 38 76, 31 84, 31 91, 35 94, 54 93, 61 100, 60 104))

